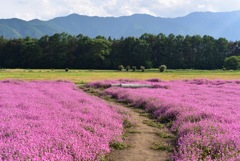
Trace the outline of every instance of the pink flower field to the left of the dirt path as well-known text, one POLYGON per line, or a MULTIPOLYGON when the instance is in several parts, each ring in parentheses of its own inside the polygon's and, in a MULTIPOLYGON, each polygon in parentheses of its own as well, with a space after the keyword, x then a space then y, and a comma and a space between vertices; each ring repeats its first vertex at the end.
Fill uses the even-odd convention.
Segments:
POLYGON ((123 119, 69 82, 0 81, 0 160, 99 160, 123 119))

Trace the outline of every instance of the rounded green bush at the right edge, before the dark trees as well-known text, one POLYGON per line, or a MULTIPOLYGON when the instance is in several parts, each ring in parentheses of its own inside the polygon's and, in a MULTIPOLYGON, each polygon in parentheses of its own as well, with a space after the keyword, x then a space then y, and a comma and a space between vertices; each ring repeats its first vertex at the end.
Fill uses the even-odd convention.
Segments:
POLYGON ((224 67, 226 69, 237 70, 240 69, 240 56, 227 57, 224 60, 224 67))

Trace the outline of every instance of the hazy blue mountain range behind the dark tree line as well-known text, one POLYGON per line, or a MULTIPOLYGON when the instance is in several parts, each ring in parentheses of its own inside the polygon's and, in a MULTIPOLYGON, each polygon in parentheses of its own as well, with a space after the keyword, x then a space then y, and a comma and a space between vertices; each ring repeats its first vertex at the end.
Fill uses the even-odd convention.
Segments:
POLYGON ((0 19, 0 35, 6 38, 26 36, 39 38, 44 35, 66 32, 89 37, 102 35, 112 38, 140 36, 144 33, 166 35, 210 35, 215 38, 240 40, 240 11, 194 12, 184 17, 161 18, 146 14, 122 17, 89 17, 71 14, 49 21, 0 19))

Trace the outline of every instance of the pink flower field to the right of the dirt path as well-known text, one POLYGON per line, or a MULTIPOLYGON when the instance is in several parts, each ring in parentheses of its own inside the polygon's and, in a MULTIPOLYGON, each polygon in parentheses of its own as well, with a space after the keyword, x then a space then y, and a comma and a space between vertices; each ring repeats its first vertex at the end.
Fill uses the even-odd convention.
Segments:
POLYGON ((240 160, 240 81, 118 80, 88 84, 143 107, 177 135, 174 160, 240 160), (111 84, 149 84, 121 88, 111 84))

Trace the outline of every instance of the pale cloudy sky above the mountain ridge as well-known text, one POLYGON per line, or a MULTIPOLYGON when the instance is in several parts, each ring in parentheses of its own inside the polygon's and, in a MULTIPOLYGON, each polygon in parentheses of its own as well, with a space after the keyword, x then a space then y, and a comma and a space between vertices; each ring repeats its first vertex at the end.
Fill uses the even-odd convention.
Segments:
POLYGON ((235 10, 240 10, 240 0, 2 0, 0 18, 49 20, 71 13, 103 17, 135 13, 181 17, 196 11, 235 10))

